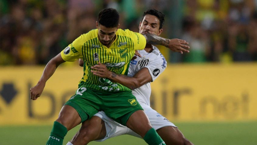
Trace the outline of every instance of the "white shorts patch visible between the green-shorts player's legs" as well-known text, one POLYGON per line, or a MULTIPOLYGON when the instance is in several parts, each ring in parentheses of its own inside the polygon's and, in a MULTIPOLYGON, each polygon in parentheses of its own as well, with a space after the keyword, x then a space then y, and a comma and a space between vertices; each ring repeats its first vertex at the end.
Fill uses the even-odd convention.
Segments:
POLYGON ((123 126, 109 118, 103 111, 98 112, 94 116, 97 116, 104 121, 106 131, 105 136, 101 139, 98 138, 96 141, 104 141, 115 136, 123 135, 126 134, 129 130, 126 126, 123 126))

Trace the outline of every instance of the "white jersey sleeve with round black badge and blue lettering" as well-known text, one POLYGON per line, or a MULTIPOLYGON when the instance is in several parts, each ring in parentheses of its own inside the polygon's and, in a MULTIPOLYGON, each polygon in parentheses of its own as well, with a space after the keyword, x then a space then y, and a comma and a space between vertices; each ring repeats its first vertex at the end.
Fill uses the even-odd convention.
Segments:
POLYGON ((167 61, 162 54, 154 62, 150 62, 145 67, 152 76, 152 82, 166 69, 167 61))

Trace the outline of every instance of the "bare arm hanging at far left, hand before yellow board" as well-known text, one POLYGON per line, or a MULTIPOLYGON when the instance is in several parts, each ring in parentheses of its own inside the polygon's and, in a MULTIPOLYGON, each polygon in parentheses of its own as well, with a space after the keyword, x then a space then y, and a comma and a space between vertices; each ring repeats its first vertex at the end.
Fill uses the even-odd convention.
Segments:
POLYGON ((36 86, 30 88, 30 99, 36 100, 38 97, 40 97, 46 85, 46 81, 53 75, 57 67, 63 62, 65 61, 59 53, 47 63, 43 74, 36 86))

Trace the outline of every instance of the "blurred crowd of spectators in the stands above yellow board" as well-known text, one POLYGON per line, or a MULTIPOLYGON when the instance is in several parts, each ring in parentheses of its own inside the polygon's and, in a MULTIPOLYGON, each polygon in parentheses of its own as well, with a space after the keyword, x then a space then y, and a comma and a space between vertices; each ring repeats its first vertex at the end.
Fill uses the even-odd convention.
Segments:
POLYGON ((176 37, 188 41, 191 50, 176 54, 173 62, 257 60, 256 0, 0 0, 0 65, 46 64, 95 29, 98 12, 109 7, 120 13, 122 29, 135 32, 146 9, 164 12, 162 36, 169 38, 167 30, 180 15, 173 29, 181 30, 176 37), (180 11, 174 13, 174 7, 180 11))

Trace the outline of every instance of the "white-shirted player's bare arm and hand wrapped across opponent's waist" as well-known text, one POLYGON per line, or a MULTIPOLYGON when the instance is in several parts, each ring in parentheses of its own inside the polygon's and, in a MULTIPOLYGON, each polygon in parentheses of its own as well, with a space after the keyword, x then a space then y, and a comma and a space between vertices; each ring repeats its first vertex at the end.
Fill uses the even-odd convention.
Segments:
POLYGON ((130 88, 131 90, 139 88, 142 85, 152 81, 152 76, 150 75, 149 70, 147 68, 142 68, 133 77, 116 74, 108 70, 107 67, 104 64, 101 64, 100 62, 98 63, 98 65, 92 66, 91 69, 93 69, 91 70, 91 72, 94 75, 99 76, 101 78, 107 78, 111 80, 113 83, 120 83, 123 86, 130 88))

